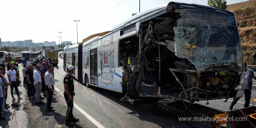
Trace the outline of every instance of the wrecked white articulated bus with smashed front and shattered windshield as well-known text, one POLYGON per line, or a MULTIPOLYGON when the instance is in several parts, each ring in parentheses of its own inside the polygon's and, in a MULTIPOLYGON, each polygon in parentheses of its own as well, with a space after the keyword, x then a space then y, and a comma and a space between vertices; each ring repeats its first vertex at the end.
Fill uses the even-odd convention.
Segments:
POLYGON ((236 16, 214 7, 170 2, 120 22, 102 37, 64 48, 64 70, 129 98, 190 102, 243 96, 236 16))

